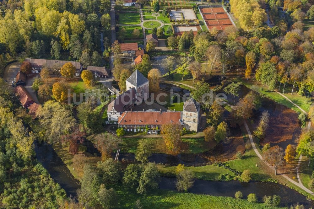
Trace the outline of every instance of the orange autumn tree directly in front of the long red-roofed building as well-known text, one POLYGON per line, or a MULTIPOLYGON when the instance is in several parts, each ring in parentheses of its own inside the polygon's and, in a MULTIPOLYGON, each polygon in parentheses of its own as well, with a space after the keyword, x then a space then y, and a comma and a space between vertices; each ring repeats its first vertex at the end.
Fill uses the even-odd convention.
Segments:
POLYGON ((173 123, 162 125, 160 130, 167 148, 174 153, 179 153, 181 149, 181 126, 173 123))

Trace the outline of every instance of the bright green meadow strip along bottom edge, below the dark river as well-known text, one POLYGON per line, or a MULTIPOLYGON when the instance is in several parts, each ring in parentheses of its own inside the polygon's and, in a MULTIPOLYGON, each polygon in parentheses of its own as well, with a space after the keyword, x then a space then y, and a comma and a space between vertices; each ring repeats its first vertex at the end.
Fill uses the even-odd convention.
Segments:
MULTIPOLYGON (((124 186, 114 188, 119 196, 119 208, 136 208, 139 200, 142 208, 177 208, 177 209, 203 209, 203 208, 233 208, 233 209, 263 209, 269 207, 263 203, 251 203, 244 199, 232 197, 200 195, 192 193, 179 193, 169 190, 156 190, 143 196, 136 191, 126 190, 124 186)), ((246 197, 244 197, 246 198, 246 197)))

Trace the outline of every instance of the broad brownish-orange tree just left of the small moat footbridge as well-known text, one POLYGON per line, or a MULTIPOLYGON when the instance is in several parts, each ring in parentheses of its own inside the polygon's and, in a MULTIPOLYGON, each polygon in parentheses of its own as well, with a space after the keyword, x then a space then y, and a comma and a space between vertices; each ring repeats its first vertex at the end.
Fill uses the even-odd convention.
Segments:
POLYGON ((101 133, 95 138, 95 147, 101 153, 101 159, 105 161, 111 157, 113 150, 119 148, 122 140, 112 133, 101 133))

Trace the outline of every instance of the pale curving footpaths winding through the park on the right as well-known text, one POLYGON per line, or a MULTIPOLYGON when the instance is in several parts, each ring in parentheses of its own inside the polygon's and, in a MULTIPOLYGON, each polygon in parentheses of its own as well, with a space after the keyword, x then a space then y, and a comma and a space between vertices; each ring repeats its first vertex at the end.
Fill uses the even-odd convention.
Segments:
MULTIPOLYGON (((194 88, 193 86, 190 86, 190 85, 187 85, 187 84, 184 84, 184 83, 179 83, 179 82, 173 82, 173 83, 176 83, 176 84, 181 84, 181 85, 184 85, 184 86, 187 86, 189 88, 194 88)), ((305 110, 303 110, 302 108, 300 108, 300 106, 298 106, 297 104, 295 104, 294 102, 292 102, 288 97, 286 97, 285 95, 281 94, 280 92, 276 91, 278 94, 280 94, 282 97, 284 97, 285 99, 287 99, 289 102, 291 102, 293 105, 295 105, 297 108, 299 108, 302 112, 304 112, 305 114, 307 114, 307 112, 305 110)), ((234 108, 234 106, 226 103, 228 106, 230 106, 232 109, 234 108)), ((252 137, 252 134, 251 134, 251 131, 249 129, 249 127, 247 126, 247 123, 246 121, 244 120, 244 126, 245 126, 245 129, 249 135, 249 138, 250 138, 250 142, 251 142, 251 145, 252 145, 252 148, 254 150, 254 152, 256 153, 256 155, 261 159, 263 160, 263 156, 258 152, 257 150, 257 147, 255 146, 255 143, 253 141, 253 137, 252 137)), ((311 127, 311 121, 309 122, 309 125, 308 125, 308 129, 311 127)), ((302 160, 302 155, 300 155, 300 158, 299 158, 299 161, 298 161, 298 166, 296 168, 296 173, 297 173, 297 179, 298 179, 298 182, 295 182, 294 180, 290 179, 288 176, 284 175, 284 174, 281 174, 281 176, 283 176, 286 180, 290 181, 292 184, 300 187, 301 189, 303 189, 304 191, 306 191, 307 193, 311 194, 311 195, 314 195, 314 192, 312 192, 311 190, 307 189, 301 182, 300 180, 300 174, 299 174, 299 167, 300 167, 300 163, 301 163, 301 160, 302 160)), ((267 164, 270 168, 273 169, 273 166, 269 165, 268 163, 265 163, 267 164)))

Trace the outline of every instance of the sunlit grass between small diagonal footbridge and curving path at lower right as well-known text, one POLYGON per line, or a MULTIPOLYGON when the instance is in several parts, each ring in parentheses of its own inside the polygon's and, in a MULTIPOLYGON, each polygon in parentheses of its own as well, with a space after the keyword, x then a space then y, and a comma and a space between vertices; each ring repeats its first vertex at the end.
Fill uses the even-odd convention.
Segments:
POLYGON ((252 180, 255 181, 267 181, 270 178, 270 176, 268 174, 265 174, 265 172, 263 171, 263 166, 265 165, 257 157, 253 149, 244 153, 242 159, 230 160, 224 162, 223 164, 231 169, 238 170, 241 172, 246 169, 250 170, 252 174, 252 180))

